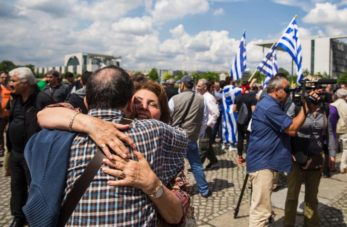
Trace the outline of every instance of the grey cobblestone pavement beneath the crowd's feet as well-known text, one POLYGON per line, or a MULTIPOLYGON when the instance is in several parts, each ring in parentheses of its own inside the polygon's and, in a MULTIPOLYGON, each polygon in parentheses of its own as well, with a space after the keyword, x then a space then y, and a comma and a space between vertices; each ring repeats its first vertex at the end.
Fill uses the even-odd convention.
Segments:
MULTIPOLYGON (((198 192, 193 174, 188 174, 185 171, 186 176, 192 185, 191 201, 192 206, 195 208, 195 218, 198 225, 213 226, 213 224, 211 224, 212 219, 233 210, 236 207, 238 197, 240 195, 245 179, 246 166, 245 164, 237 164, 238 156, 236 151, 229 152, 227 149, 222 151, 220 146, 217 145, 214 145, 214 149, 219 160, 219 166, 216 169, 205 171, 206 179, 209 182, 209 188, 213 191, 211 197, 203 198, 198 192)), ((2 161, 3 158, 0 158, 0 164, 2 164, 2 161)), ((203 166, 207 164, 208 160, 205 161, 203 166)), ((186 160, 185 169, 187 170, 189 168, 190 166, 188 160, 186 160)), ((278 184, 281 187, 286 186, 285 174, 280 174, 278 184)), ((250 193, 251 190, 246 188, 242 204, 247 202, 249 203, 250 193)), ((10 212, 10 195, 10 176, 5 177, 4 170, 1 167, 0 227, 9 226, 12 222, 12 216, 10 212)), ((336 198, 330 200, 328 204, 323 205, 319 209, 319 216, 321 226, 346 226, 347 190, 341 191, 341 193, 336 198)), ((230 216, 230 220, 233 220, 232 216, 230 216)), ((299 226, 304 225, 303 223, 300 223, 299 226)))

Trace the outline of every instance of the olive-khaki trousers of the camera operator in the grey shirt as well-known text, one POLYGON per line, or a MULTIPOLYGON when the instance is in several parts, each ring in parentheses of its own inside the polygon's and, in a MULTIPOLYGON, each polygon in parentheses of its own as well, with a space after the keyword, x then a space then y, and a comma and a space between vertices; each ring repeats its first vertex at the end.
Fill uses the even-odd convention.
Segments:
POLYGON ((297 163, 293 163, 293 172, 287 175, 288 192, 283 226, 295 225, 299 192, 303 180, 305 180, 304 224, 305 226, 319 226, 317 194, 321 171, 304 171, 297 163))

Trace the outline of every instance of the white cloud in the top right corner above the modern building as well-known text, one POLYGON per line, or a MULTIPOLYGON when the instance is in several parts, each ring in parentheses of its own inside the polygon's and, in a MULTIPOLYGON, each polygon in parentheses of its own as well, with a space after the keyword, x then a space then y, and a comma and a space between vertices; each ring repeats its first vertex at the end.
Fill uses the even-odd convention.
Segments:
POLYGON ((325 27, 328 35, 346 34, 347 7, 338 9, 337 4, 330 2, 316 3, 315 8, 307 13, 303 21, 325 27))

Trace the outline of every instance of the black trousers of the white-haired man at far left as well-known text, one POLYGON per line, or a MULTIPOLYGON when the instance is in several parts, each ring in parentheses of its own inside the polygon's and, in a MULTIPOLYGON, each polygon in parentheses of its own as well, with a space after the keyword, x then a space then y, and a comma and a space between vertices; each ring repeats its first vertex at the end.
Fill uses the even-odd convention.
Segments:
POLYGON ((12 149, 10 156, 11 169, 11 215, 15 218, 25 218, 22 208, 28 198, 28 188, 31 182, 29 167, 23 152, 12 149))

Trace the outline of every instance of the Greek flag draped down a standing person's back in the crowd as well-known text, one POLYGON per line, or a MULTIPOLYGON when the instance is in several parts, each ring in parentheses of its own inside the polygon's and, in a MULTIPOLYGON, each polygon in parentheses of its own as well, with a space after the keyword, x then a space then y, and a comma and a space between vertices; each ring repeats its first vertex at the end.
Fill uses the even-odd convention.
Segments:
POLYGON ((242 88, 227 85, 223 88, 222 99, 222 139, 223 143, 237 142, 237 114, 233 111, 235 97, 241 94, 242 88))

